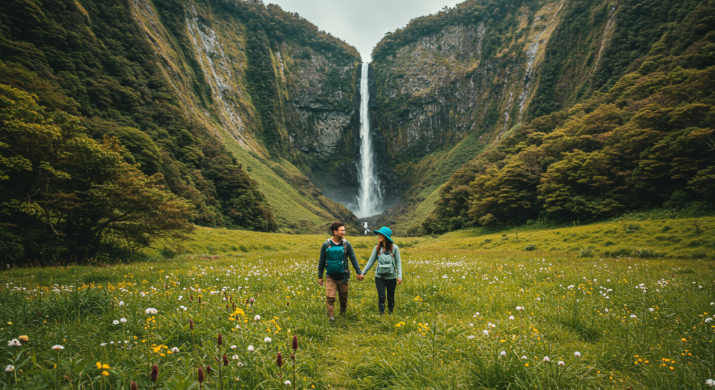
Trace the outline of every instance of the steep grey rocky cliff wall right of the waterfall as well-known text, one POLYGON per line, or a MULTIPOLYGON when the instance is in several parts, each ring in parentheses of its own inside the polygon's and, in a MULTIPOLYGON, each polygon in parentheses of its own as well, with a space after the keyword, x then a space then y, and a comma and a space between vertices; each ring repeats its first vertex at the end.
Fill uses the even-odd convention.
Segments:
POLYGON ((379 155, 407 191, 380 221, 420 234, 462 164, 533 117, 611 85, 626 71, 609 58, 620 6, 465 1, 385 36, 373 51, 379 155))

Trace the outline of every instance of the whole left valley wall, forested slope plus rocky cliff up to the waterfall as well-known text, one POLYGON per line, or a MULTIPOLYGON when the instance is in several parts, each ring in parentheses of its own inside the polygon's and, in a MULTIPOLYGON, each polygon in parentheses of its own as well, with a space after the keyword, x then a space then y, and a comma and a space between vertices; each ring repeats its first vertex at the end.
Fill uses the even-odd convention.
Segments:
MULTIPOLYGON (((308 179, 354 184, 342 173, 357 150, 352 46, 261 1, 15 0, 0 8, 0 60, 19 69, 3 82, 29 88, 25 79, 39 77, 66 100, 54 109, 81 114, 95 138, 119 136, 128 159, 164 173, 197 206, 196 223, 300 232, 356 222, 308 179), (220 156, 255 181, 227 184, 217 174, 226 163, 209 164, 220 156), (235 186, 255 189, 262 203, 248 206, 235 186), (272 222, 245 220, 257 205, 272 222)), ((48 88, 38 91, 49 96, 48 88)))

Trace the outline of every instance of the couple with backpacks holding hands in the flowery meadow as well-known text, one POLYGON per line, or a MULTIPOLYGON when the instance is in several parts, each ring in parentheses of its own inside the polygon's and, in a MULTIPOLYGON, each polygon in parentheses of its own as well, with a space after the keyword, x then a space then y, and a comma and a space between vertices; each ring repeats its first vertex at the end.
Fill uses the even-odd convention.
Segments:
POLYGON ((388 301, 388 311, 390 314, 395 307, 395 287, 402 283, 402 264, 400 263, 400 249, 393 244, 392 234, 387 227, 373 233, 378 236, 378 245, 373 249, 373 254, 365 265, 365 269, 360 271, 358 258, 352 245, 345 237, 345 224, 333 222, 330 224, 332 237, 327 239, 320 248, 320 263, 317 266, 317 282, 322 287, 325 285, 325 304, 327 306, 327 316, 330 322, 335 321, 335 295, 339 296, 340 314, 345 314, 347 310, 347 282, 350 280, 350 267, 348 259, 355 268, 358 280, 365 279, 365 274, 373 267, 375 262, 375 286, 378 288, 378 307, 380 314, 385 313, 385 298, 388 301), (325 271, 325 281, 322 276, 325 271), (385 294, 387 293, 387 294, 385 294))

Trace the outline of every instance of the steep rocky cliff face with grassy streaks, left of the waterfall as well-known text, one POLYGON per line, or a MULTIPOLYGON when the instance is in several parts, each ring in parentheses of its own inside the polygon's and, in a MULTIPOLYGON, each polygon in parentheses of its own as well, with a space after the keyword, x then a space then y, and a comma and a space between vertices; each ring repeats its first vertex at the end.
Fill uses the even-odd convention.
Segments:
POLYGON ((166 77, 182 96, 187 115, 225 141, 237 142, 249 168, 264 164, 278 176, 250 169, 269 199, 273 197, 271 204, 283 224, 354 219, 313 183, 329 193, 337 189, 335 194, 357 185, 355 49, 318 33, 304 19, 260 2, 132 0, 131 6, 162 59, 166 77), (167 6, 179 7, 176 19, 169 19, 167 6), (286 31, 290 29, 297 30, 292 39, 286 31), (205 86, 205 99, 197 94, 197 85, 205 86), (292 186, 305 201, 284 209, 285 202, 277 198, 295 194, 282 191, 285 185, 275 184, 277 180, 292 186), (293 215, 295 206, 300 215, 293 215))

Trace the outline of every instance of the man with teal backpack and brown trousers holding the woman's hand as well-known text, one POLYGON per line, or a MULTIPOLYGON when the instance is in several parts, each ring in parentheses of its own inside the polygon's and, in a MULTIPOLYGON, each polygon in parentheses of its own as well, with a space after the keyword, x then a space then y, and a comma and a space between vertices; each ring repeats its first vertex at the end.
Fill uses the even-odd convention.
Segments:
POLYGON ((355 251, 352 251, 350 242, 344 239, 345 224, 333 222, 330 224, 332 237, 327 239, 320 248, 320 262, 317 266, 317 282, 323 286, 322 273, 325 271, 325 305, 327 306, 327 316, 330 322, 335 321, 335 293, 340 296, 340 314, 345 314, 347 310, 347 281, 350 280, 350 266, 347 259, 350 258, 352 267, 355 268, 358 280, 363 280, 363 272, 360 271, 358 258, 355 251))

